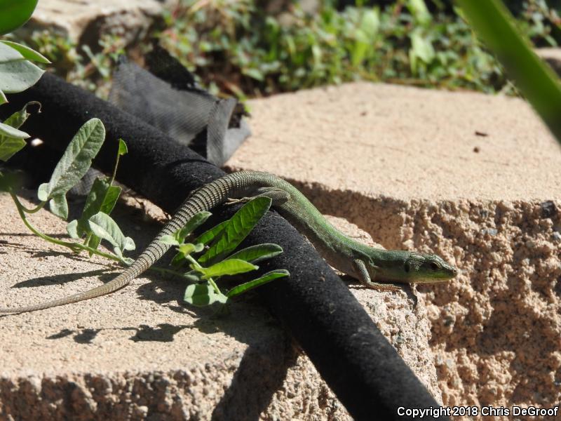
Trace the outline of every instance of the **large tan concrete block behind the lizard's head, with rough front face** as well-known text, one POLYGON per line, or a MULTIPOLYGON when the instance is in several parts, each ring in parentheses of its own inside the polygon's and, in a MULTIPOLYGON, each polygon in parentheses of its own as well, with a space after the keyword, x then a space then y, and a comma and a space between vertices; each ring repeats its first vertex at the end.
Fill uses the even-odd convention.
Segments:
POLYGON ((229 169, 276 173, 387 248, 461 269, 418 287, 445 405, 560 401, 561 151, 525 102, 351 83, 250 108, 229 169))

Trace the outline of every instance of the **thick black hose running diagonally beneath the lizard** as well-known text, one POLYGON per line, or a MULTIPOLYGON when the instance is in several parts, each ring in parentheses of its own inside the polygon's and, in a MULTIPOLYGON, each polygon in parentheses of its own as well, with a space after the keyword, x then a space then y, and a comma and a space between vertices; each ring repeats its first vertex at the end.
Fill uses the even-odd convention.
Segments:
MULTIPOLYGON (((94 165, 111 171, 117 140, 125 139, 129 153, 121 159, 117 179, 167 212, 173 213, 193 189, 224 175, 151 126, 51 74, 8 99, 10 104, 0 107, 4 117, 26 102, 41 102, 42 112, 22 130, 55 149, 65 149, 88 119, 101 119, 107 138, 94 165)), ((398 407, 438 408, 339 276, 288 222, 270 213, 248 242, 278 243, 285 250, 266 269, 288 269, 290 279, 257 290, 356 420, 410 420, 398 415, 398 407)))

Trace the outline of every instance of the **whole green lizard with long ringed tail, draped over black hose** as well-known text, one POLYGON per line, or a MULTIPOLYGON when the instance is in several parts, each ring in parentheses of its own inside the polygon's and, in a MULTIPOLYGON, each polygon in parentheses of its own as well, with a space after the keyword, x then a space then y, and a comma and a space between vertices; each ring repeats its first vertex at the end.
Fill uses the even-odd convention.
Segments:
POLYGON ((269 173, 241 171, 224 175, 191 194, 137 260, 109 283, 39 305, 0 309, 0 313, 47 309, 99 297, 123 288, 154 265, 170 248, 168 244, 158 241, 161 236, 181 229, 202 210, 210 210, 227 201, 245 201, 250 196, 258 195, 271 197, 278 212, 311 241, 332 267, 359 279, 368 287, 395 288, 376 283, 374 279, 402 283, 433 283, 446 281, 457 274, 455 267, 437 255, 405 250, 382 250, 358 243, 327 222, 319 210, 290 183, 269 173))

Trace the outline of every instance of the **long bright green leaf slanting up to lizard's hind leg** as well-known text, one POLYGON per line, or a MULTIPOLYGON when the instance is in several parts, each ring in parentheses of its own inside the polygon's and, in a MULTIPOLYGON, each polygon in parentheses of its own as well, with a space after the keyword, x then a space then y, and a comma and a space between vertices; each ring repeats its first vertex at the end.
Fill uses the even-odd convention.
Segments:
POLYGON ((229 220, 218 241, 198 261, 215 262, 229 255, 248 236, 270 207, 271 198, 266 196, 256 197, 245 203, 229 220))

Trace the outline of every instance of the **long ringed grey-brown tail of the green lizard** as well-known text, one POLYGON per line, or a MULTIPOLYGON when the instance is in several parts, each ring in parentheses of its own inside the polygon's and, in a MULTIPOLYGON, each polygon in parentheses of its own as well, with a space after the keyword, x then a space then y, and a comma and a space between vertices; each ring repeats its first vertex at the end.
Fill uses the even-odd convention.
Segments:
POLYGON ((34 312, 36 310, 70 304, 72 302, 89 300, 90 298, 100 297, 101 295, 106 295, 123 288, 123 286, 128 285, 130 281, 142 274, 142 272, 151 267, 151 265, 154 265, 154 263, 169 250, 170 246, 168 244, 158 241, 161 236, 173 234, 173 232, 177 231, 177 229, 181 229, 196 213, 203 210, 210 210, 211 208, 214 208, 220 203, 226 201, 229 197, 234 197, 237 194, 243 194, 245 189, 252 187, 252 177, 250 177, 249 174, 250 173, 232 173, 225 175, 224 177, 214 180, 208 185, 201 187, 201 189, 196 190, 194 194, 184 201, 180 210, 178 210, 174 217, 165 224, 161 232, 158 236, 156 236, 156 239, 147 246, 137 260, 135 260, 133 265, 128 267, 125 272, 119 274, 119 276, 112 281, 87 290, 83 293, 69 295, 58 300, 43 302, 38 305, 13 309, 0 308, 0 313, 34 312))

